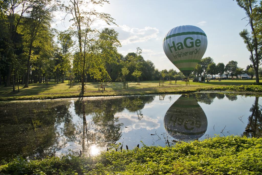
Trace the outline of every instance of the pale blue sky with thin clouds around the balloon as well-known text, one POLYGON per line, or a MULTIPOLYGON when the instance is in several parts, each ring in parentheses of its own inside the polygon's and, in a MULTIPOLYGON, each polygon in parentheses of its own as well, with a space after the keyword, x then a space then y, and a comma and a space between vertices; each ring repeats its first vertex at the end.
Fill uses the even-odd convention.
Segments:
MULTIPOLYGON (((102 30, 113 28, 119 33, 122 47, 118 52, 124 56, 142 49, 142 56, 150 60, 159 70, 174 69, 179 71, 166 57, 163 51, 163 38, 172 28, 180 25, 194 25, 207 35, 208 47, 203 56, 211 57, 217 64, 225 65, 237 61, 238 66, 246 68, 251 64, 250 52, 247 50, 239 32, 248 22, 241 20, 245 12, 236 1, 201 0, 201 1, 157 1, 157 0, 109 0, 110 4, 96 7, 99 12, 108 13, 117 25, 108 26, 103 21, 94 24, 94 28, 102 30)), ((62 12, 57 12, 54 19, 58 30, 66 30, 69 23, 61 24, 62 12)))

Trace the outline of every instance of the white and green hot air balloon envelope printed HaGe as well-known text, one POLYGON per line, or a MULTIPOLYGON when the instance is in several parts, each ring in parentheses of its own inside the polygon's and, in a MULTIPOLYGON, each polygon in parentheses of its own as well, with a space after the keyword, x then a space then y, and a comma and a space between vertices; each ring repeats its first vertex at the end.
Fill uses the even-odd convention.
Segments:
POLYGON ((204 56, 208 40, 205 32, 193 25, 182 25, 167 32, 163 49, 167 58, 186 76, 204 56))

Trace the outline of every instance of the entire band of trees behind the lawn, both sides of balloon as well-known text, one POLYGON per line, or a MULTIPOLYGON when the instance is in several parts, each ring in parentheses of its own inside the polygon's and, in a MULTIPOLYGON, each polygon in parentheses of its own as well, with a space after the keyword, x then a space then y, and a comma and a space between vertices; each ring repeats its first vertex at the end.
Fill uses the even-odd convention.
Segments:
MULTIPOLYGON (((30 83, 42 83, 50 79, 55 79, 56 83, 77 81, 84 86, 85 82, 90 81, 145 81, 183 77, 181 72, 173 69, 156 69, 154 63, 141 56, 139 47, 136 53, 130 52, 126 56, 119 54, 117 48, 121 47, 121 43, 118 32, 110 28, 99 31, 93 26, 97 20, 103 20, 109 25, 116 24, 114 19, 110 14, 87 10, 90 3, 102 6, 108 1, 69 1, 67 4, 52 0, 2 1, 0 84, 3 82, 5 86, 13 86, 15 91, 15 85, 18 89, 19 84, 26 88, 30 83), (69 21, 73 21, 73 24, 66 31, 57 31, 51 26, 54 12, 58 10, 71 15, 69 21)), ((216 65, 212 58, 206 57, 196 65, 193 76, 208 78, 217 74, 238 76, 247 73, 256 75, 258 79, 262 2, 259 6, 255 5, 256 1, 237 3, 246 11, 246 18, 252 27, 251 33, 246 29, 240 32, 250 51, 252 64, 244 70, 237 66, 236 61, 216 65)))

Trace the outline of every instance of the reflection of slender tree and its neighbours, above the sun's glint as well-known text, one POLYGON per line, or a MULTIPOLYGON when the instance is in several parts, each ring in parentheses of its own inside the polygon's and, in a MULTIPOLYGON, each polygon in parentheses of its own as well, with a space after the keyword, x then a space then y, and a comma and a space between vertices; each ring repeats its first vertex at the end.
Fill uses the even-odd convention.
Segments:
POLYGON ((74 102, 75 113, 83 119, 83 123, 77 126, 76 138, 82 144, 83 152, 89 153, 90 146, 99 144, 100 147, 116 143, 122 135, 117 112, 125 108, 131 112, 137 112, 138 119, 143 117, 141 109, 147 102, 153 101, 154 96, 129 97, 119 99, 80 99, 74 102), (91 116, 89 123, 86 116, 91 116))

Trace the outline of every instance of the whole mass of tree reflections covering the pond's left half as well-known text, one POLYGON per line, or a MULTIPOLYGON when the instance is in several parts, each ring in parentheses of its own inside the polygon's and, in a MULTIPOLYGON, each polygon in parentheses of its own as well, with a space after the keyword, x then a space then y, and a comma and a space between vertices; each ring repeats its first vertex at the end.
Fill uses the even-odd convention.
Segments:
MULTIPOLYGON (((91 144, 106 146, 121 137, 117 112, 127 109, 143 117, 142 109, 154 96, 117 99, 18 102, 0 105, 0 159, 19 154, 28 158, 54 155, 68 141, 78 141, 84 150, 91 144), (81 119, 74 123, 73 107, 81 119), (91 116, 91 121, 86 117, 91 116), (84 141, 83 141, 84 140, 84 141)), ((84 151, 83 150, 83 151, 84 151)))

